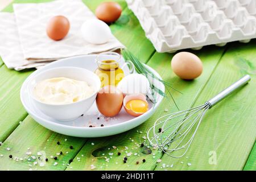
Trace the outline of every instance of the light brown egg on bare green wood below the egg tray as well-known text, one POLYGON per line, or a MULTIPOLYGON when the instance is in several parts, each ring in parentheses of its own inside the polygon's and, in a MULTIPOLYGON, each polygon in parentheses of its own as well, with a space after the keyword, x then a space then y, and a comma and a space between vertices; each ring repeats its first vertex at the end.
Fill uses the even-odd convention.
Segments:
POLYGON ((203 63, 199 57, 190 52, 179 52, 171 61, 174 73, 184 80, 193 80, 203 72, 203 63))

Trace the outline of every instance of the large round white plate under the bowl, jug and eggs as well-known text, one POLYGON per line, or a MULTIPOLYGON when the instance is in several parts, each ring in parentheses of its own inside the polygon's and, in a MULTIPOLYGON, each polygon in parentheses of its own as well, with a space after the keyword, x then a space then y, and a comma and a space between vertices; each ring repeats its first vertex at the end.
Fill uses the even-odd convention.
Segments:
MULTIPOLYGON (((103 117, 98 111, 96 104, 94 103, 90 110, 80 118, 77 118, 74 121, 61 122, 57 121, 56 119, 48 117, 34 106, 34 104, 31 101, 31 97, 28 95, 27 92, 27 83, 34 75, 42 71, 46 71, 47 69, 56 67, 79 67, 89 69, 90 71, 95 71, 97 69, 95 58, 96 55, 69 57, 67 59, 61 59, 59 61, 55 61, 51 64, 48 64, 45 67, 38 69, 37 71, 32 73, 24 81, 22 88, 20 89, 20 100, 22 101, 22 104, 24 108, 27 110, 28 114, 30 114, 36 122, 38 122, 40 125, 46 127, 49 130, 73 137, 88 138, 106 137, 110 135, 123 133, 147 121, 147 119, 155 113, 160 102, 162 102, 162 96, 158 95, 156 97, 155 106, 151 106, 147 113, 137 118, 128 115, 124 109, 122 109, 121 112, 114 118, 103 117), (104 127, 101 127, 101 124, 103 124, 104 127), (93 125, 96 127, 89 127, 89 125, 93 125)), ((121 59, 120 67, 122 67, 123 64, 124 60, 121 59)), ((146 65, 146 67, 148 66, 146 65)), ((148 67, 148 69, 154 72, 156 76, 159 76, 158 73, 154 71, 154 69, 150 67, 148 67)), ((125 72, 125 75, 129 75, 129 69, 127 67, 123 68, 123 71, 125 72)), ((158 82, 158 86, 161 90, 164 91, 164 85, 162 83, 158 82)))

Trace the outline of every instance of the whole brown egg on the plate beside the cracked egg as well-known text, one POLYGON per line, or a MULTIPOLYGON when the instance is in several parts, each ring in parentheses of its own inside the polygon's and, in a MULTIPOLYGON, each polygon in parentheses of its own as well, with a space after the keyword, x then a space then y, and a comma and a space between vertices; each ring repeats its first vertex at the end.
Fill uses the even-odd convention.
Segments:
POLYGON ((98 92, 96 104, 101 114, 114 117, 123 106, 123 93, 115 86, 105 86, 98 92))

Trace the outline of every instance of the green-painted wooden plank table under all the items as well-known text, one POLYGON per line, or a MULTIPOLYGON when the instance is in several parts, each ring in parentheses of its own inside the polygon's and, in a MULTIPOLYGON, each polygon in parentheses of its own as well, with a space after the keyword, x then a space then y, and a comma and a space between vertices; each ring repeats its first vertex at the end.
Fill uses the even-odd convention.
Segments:
MULTIPOLYGON (((20 2, 36 1, 14 1, 20 2)), ((92 11, 101 2, 84 0, 92 11)), ((184 158, 173 159, 157 150, 145 155, 137 147, 155 119, 166 114, 165 109, 177 111, 171 98, 164 99, 154 116, 134 130, 105 138, 68 137, 40 126, 24 110, 19 99, 20 86, 34 70, 16 72, 7 69, 0 61, 0 169, 91 170, 93 164, 96 167, 94 170, 255 170, 256 40, 248 44, 229 43, 226 47, 208 46, 195 51, 204 64, 203 75, 194 81, 180 80, 170 66, 174 54, 156 52, 126 2, 117 2, 122 6, 123 13, 110 26, 113 34, 144 63, 156 69, 165 81, 171 82, 174 88, 183 93, 173 92, 180 109, 202 104, 245 74, 251 75, 250 84, 209 110, 187 154, 184 158), (69 146, 73 146, 73 149, 69 146), (31 155, 27 155, 29 151, 31 155), (63 155, 57 154, 60 151, 63 155), (121 152, 120 156, 117 155, 118 151, 121 152), (130 156, 127 163, 123 163, 125 151, 138 155, 130 156), (34 163, 34 156, 40 156, 38 152, 45 152, 49 159, 44 167, 34 163), (9 159, 9 155, 13 155, 13 159, 9 159), (57 160, 51 156, 57 156, 57 160), (70 159, 73 162, 68 165, 70 159), (146 162, 143 163, 143 159, 146 162), (162 162, 158 163, 158 159, 162 159, 162 162), (139 164, 136 164, 137 161, 139 164), (57 164, 54 165, 55 162, 57 164), (188 163, 192 165, 188 166, 188 163)), ((13 11, 12 5, 3 11, 13 11)))

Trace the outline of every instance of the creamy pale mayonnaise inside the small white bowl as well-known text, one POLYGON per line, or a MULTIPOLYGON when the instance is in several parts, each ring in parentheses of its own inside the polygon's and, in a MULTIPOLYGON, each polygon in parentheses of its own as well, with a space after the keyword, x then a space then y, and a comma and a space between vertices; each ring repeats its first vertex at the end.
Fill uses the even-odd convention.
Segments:
POLYGON ((46 104, 71 104, 92 96, 94 89, 85 81, 57 77, 36 84, 34 96, 46 104))

